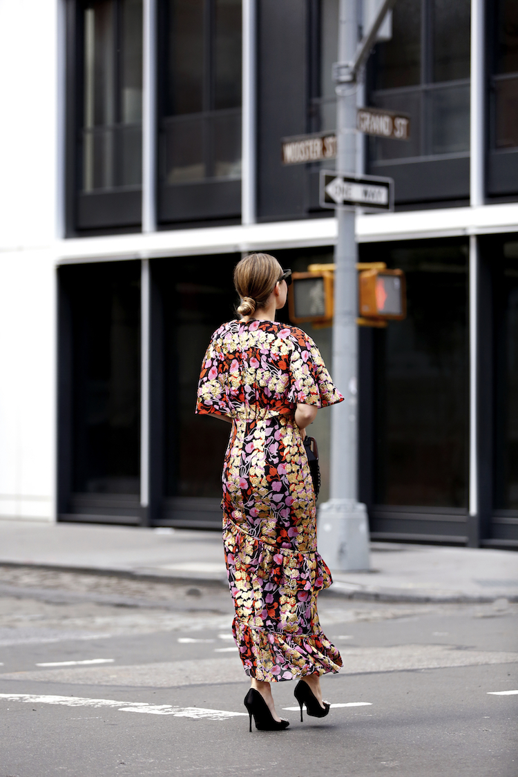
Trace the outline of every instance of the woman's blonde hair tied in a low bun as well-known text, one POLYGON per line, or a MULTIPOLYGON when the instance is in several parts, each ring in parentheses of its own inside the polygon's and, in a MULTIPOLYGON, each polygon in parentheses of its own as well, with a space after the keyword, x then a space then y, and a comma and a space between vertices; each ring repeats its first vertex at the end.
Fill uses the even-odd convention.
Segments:
POLYGON ((242 299, 239 315, 253 315, 266 305, 273 287, 283 274, 275 256, 269 253, 249 253, 235 266, 234 285, 242 299))

